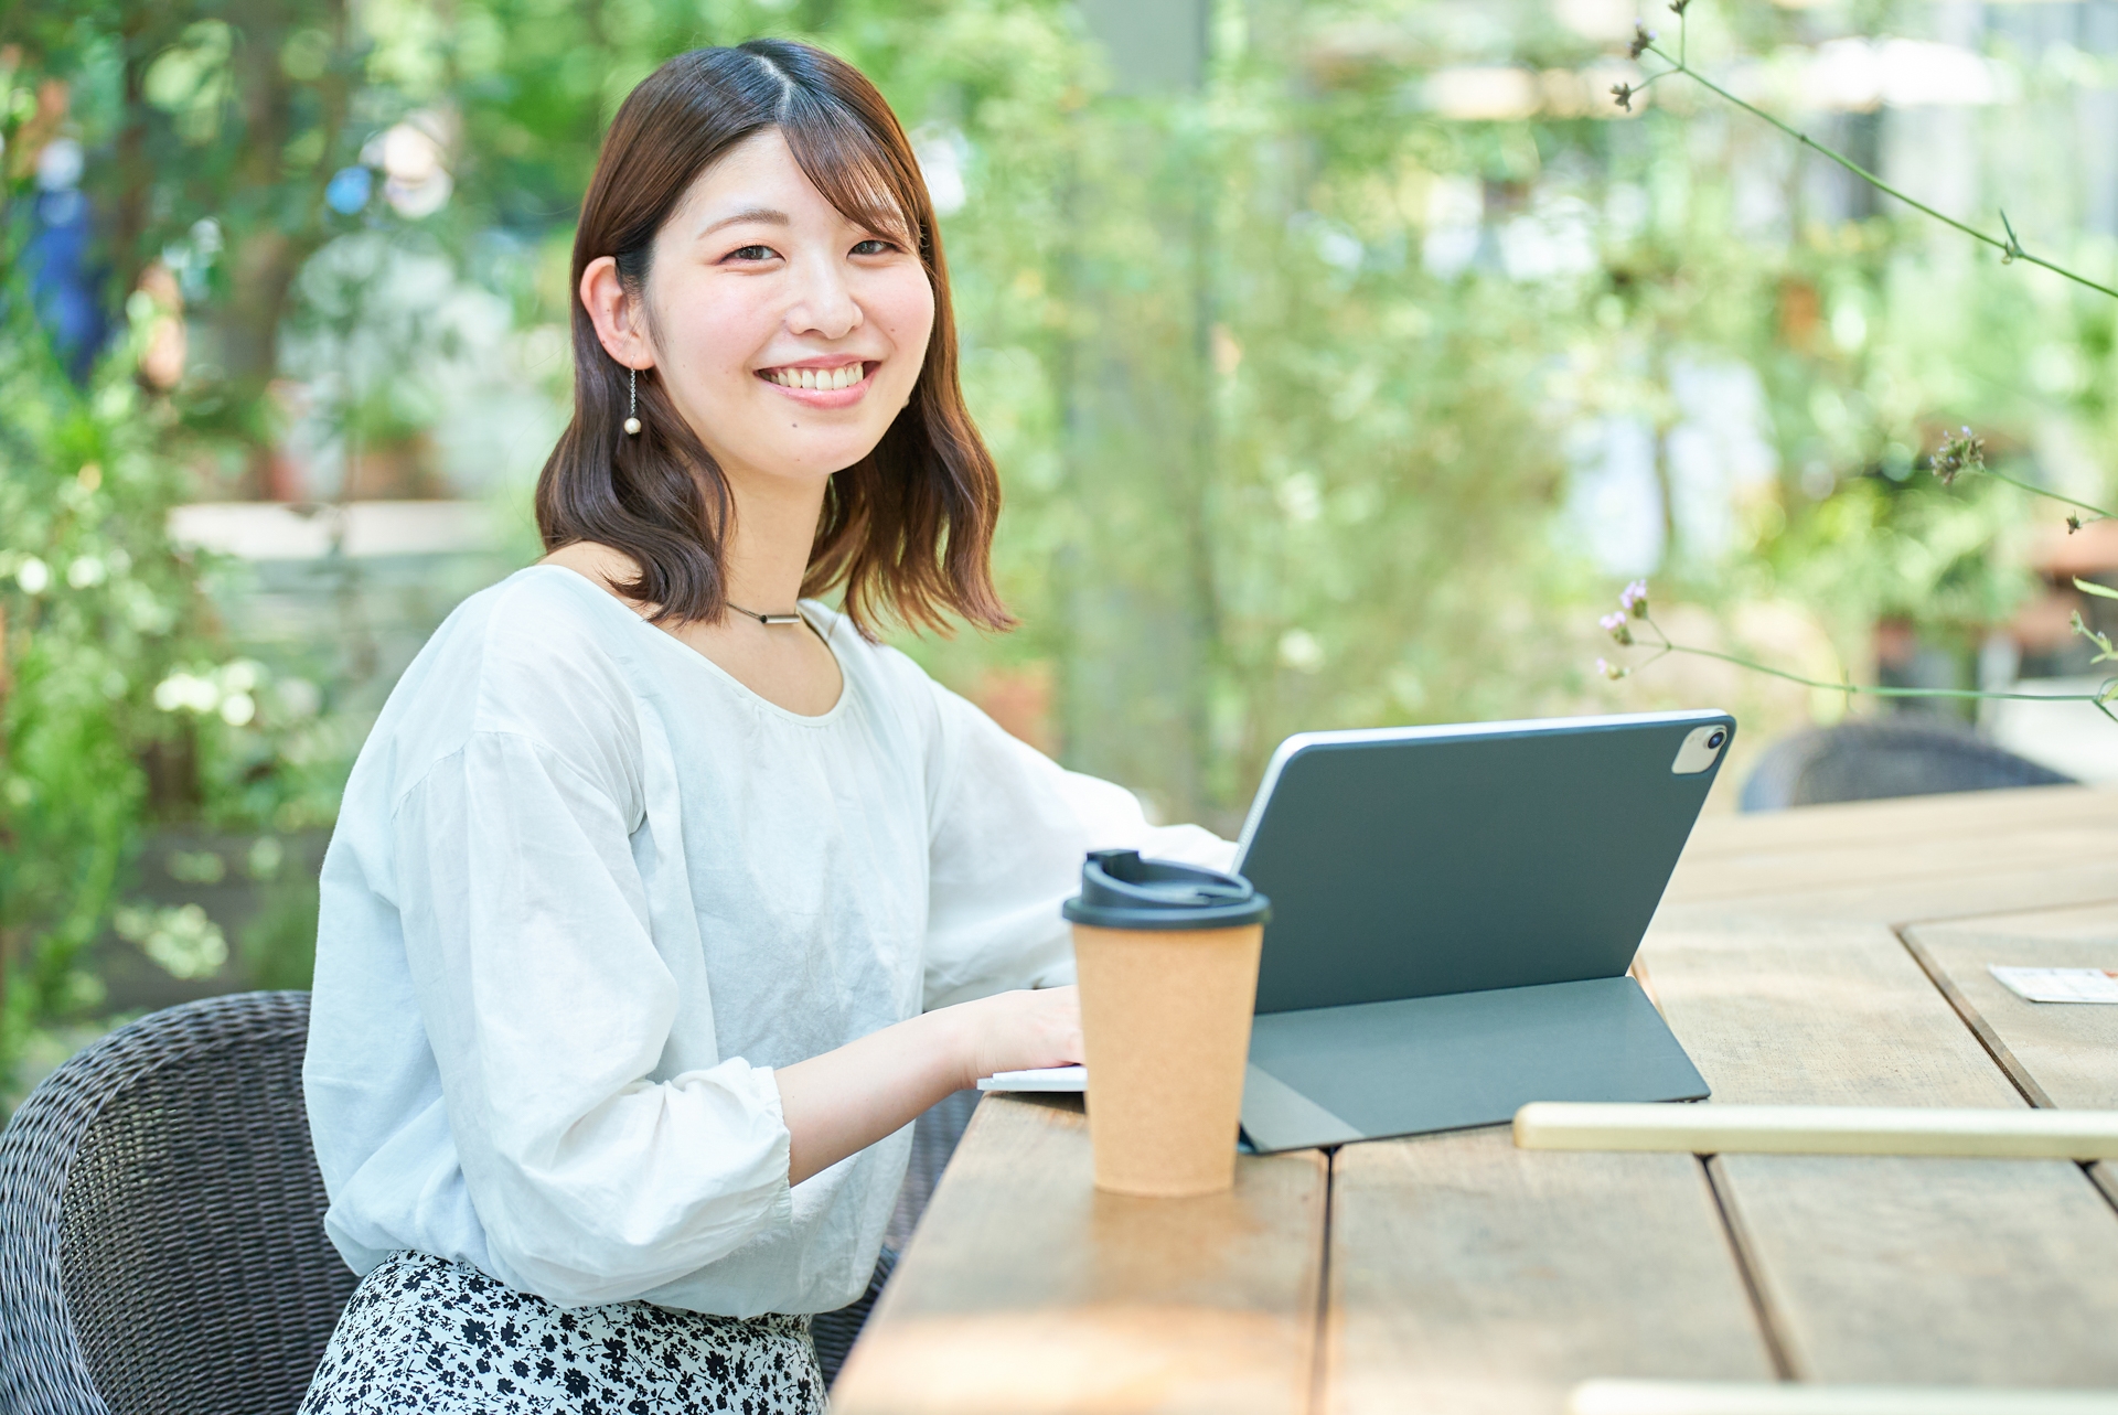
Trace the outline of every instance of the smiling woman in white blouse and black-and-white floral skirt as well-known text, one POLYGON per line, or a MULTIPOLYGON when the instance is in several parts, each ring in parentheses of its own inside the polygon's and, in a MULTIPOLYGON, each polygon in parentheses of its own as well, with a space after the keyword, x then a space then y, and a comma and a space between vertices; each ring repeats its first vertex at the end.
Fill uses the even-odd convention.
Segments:
POLYGON ((820 1409, 803 1313, 864 1290, 913 1116, 1080 1057, 1082 852, 1226 858, 873 642, 1008 621, 866 78, 665 64, 574 286, 551 553, 407 669, 324 862, 305 1091, 362 1284, 316 1415, 820 1409))

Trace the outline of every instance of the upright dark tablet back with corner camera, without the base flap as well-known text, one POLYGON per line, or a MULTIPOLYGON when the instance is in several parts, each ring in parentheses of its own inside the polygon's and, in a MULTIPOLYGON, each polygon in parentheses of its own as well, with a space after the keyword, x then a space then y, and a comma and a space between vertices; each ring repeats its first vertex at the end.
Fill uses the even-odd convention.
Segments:
POLYGON ((1300 733, 1237 871, 1258 1013, 1625 974, 1735 739, 1726 712, 1300 733))

